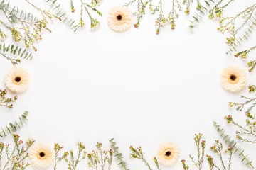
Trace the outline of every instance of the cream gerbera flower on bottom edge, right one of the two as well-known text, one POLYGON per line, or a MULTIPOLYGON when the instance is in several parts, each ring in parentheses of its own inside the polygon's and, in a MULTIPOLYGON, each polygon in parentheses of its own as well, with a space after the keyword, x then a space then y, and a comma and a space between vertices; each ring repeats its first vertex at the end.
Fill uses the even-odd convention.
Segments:
POLYGON ((166 142, 161 145, 159 152, 156 155, 160 164, 171 166, 178 161, 179 149, 175 143, 166 142))

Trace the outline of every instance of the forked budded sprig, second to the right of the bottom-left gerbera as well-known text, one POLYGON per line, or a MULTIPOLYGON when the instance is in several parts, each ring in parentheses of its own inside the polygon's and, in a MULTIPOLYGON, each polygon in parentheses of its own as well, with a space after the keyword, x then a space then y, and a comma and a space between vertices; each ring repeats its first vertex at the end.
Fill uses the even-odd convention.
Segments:
POLYGON ((64 160, 68 164, 68 169, 75 170, 77 169, 78 164, 86 158, 85 146, 81 142, 78 142, 78 157, 75 159, 73 150, 70 152, 65 152, 64 160), (70 157, 68 157, 68 155, 70 157))

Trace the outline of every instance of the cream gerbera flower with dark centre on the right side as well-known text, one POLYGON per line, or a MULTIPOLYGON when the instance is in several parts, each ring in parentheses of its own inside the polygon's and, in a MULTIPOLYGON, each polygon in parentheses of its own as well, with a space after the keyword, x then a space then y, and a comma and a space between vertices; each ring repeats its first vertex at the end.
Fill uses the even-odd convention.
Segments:
POLYGON ((220 83, 225 90, 240 91, 246 83, 245 71, 234 66, 225 67, 220 75, 220 83))

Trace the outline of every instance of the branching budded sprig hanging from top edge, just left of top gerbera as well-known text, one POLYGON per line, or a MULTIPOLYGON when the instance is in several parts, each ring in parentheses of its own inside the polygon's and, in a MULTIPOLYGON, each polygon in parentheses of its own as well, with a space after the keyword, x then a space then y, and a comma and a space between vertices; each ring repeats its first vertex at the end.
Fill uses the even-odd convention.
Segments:
POLYGON ((84 15, 87 15, 90 18, 90 29, 96 30, 100 26, 100 21, 92 17, 89 9, 91 11, 96 12, 99 16, 102 16, 102 13, 95 8, 95 4, 89 5, 85 3, 83 0, 81 1, 81 9, 80 9, 80 20, 77 25, 73 26, 73 29, 76 31, 78 28, 85 26, 85 21, 83 20, 84 15), (85 10, 85 11, 84 11, 85 10))

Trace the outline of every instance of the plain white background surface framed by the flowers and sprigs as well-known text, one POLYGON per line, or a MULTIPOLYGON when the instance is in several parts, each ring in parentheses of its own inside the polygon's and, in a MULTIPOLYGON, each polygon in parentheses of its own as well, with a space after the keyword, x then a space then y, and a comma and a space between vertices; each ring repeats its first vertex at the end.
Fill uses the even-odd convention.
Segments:
MULTIPOLYGON (((77 33, 59 21, 50 24, 53 33, 45 33, 36 46, 34 59, 23 60, 21 64, 31 76, 29 89, 18 94, 13 109, 0 108, 0 124, 4 126, 23 111, 29 111, 29 121, 18 134, 24 140, 34 138, 51 146, 58 142, 64 150, 75 150, 78 141, 85 144, 88 152, 95 149, 96 142, 102 142, 107 149, 108 140, 114 137, 131 169, 146 167, 129 158, 130 145, 141 145, 153 166, 151 159, 160 144, 176 142, 181 150, 180 159, 186 159, 193 170, 188 155, 196 156, 195 133, 203 133, 206 153, 214 156, 210 147, 220 137, 213 128, 213 120, 233 137, 235 127, 226 125, 224 116, 233 114, 244 123, 245 115, 231 111, 228 101, 240 101, 240 94, 248 95, 247 88, 231 94, 222 89, 219 77, 224 67, 236 65, 247 69, 246 63, 225 55, 228 46, 225 36, 216 30, 218 22, 206 17, 193 33, 189 32, 188 20, 193 11, 190 16, 182 13, 176 30, 166 26, 160 35, 155 35, 157 16, 150 13, 146 13, 139 29, 132 27, 124 33, 114 33, 107 26, 107 12, 125 2, 105 0, 100 6, 102 23, 94 32, 89 30, 88 22, 77 33)), ((44 1, 34 3, 48 8, 44 1)), ((62 3, 69 11, 69 1, 62 3)), ((165 3, 167 15, 170 7, 169 2, 165 3)), ((13 0, 11 4, 33 11, 24 1, 13 0)), ((238 13, 250 4, 252 1, 235 1, 228 14, 238 13)), ((75 7, 77 11, 72 17, 78 18, 80 1, 75 1, 75 7)), ((240 50, 255 45, 252 39, 240 50)), ((1 89, 5 88, 4 74, 11 67, 0 58, 1 89)), ((254 74, 246 73, 247 85, 254 84, 254 74)), ((11 138, 3 141, 11 142, 11 138)), ((242 148, 255 159, 253 145, 242 143, 242 148)), ((215 161, 218 162, 217 157, 215 161)), ((114 164, 113 169, 119 169, 117 162, 114 164)), ((59 169, 66 167, 63 162, 59 169)), ((86 162, 78 169, 87 169, 86 162)), ((163 169, 182 167, 178 162, 163 169)), ((249 168, 240 163, 236 154, 232 169, 249 168)))

